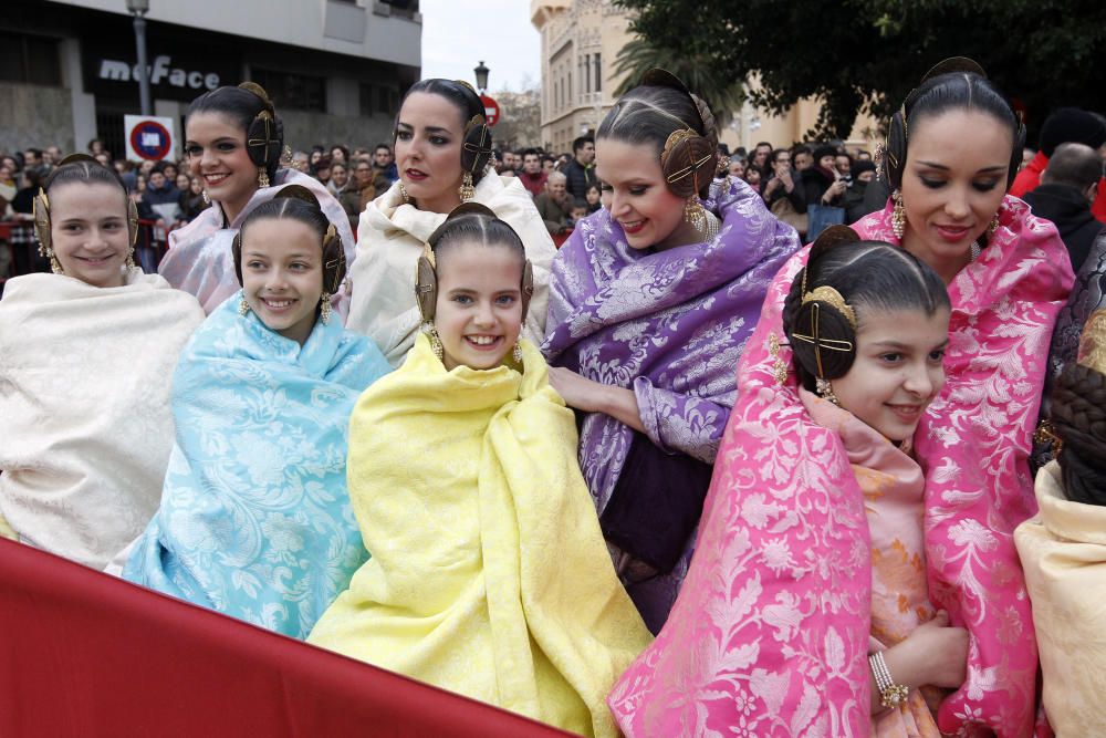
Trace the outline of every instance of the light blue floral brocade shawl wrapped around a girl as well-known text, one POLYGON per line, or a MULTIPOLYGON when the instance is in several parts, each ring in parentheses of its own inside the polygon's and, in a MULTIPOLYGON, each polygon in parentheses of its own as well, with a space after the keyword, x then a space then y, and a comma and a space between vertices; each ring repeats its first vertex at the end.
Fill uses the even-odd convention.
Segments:
POLYGON ((173 376, 176 445, 161 507, 124 576, 306 637, 367 558, 346 492, 357 395, 389 371, 337 321, 301 347, 232 295, 173 376))

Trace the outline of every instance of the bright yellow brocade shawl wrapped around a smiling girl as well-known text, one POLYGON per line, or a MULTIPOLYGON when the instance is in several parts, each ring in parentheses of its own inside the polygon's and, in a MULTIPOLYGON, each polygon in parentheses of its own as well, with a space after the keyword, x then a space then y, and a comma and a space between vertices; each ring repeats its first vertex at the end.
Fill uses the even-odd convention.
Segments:
POLYGON ((651 637, 603 544, 572 412, 521 345, 523 373, 447 372, 420 334, 362 395, 349 491, 373 558, 310 642, 615 736, 604 698, 651 637))

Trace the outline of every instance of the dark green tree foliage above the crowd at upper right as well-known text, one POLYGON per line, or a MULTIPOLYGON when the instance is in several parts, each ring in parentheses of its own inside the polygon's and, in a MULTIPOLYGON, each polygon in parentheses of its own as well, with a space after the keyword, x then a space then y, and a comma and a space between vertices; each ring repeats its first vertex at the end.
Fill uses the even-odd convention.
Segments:
MULTIPOLYGON (((636 14, 632 31, 656 59, 693 60, 713 87, 755 79, 750 101, 774 113, 821 97, 820 136, 846 136, 860 112, 886 119, 949 56, 983 65, 1024 111, 1031 141, 1055 107, 1106 110, 1103 0, 617 2, 636 14)), ((635 59, 636 80, 651 64, 635 59)))

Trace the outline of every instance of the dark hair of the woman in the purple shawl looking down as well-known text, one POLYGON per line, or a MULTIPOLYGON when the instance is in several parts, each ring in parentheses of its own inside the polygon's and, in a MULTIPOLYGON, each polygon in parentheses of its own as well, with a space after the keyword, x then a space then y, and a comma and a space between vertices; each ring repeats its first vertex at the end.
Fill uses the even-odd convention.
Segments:
MULTIPOLYGON (((635 146, 651 146, 657 159, 660 159, 668 137, 676 131, 690 128, 706 139, 702 148, 714 156, 714 160, 703 167, 706 176, 699 178, 698 195, 707 197, 718 157, 718 125, 714 116, 702 100, 686 89, 649 84, 648 80, 649 73, 646 74, 646 84, 634 87, 618 98, 603 118, 595 137, 612 138, 635 146)), ((679 81, 676 84, 682 86, 679 81)))

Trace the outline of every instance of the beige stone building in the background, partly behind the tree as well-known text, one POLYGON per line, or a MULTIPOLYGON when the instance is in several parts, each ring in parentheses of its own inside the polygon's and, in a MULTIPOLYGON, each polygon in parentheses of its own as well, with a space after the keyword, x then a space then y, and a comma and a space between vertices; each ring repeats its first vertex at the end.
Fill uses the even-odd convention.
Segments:
MULTIPOLYGON (((613 69, 633 39, 632 17, 612 0, 531 0, 530 18, 542 37, 542 141, 547 150, 571 152, 572 141, 594 134, 617 100, 625 74, 613 69)), ((780 116, 747 103, 719 131, 719 139, 730 150, 751 150, 761 141, 790 146, 805 139, 818 110, 816 100, 803 100, 780 116)), ((866 116, 857 118, 846 143, 868 146, 876 127, 866 116)))

